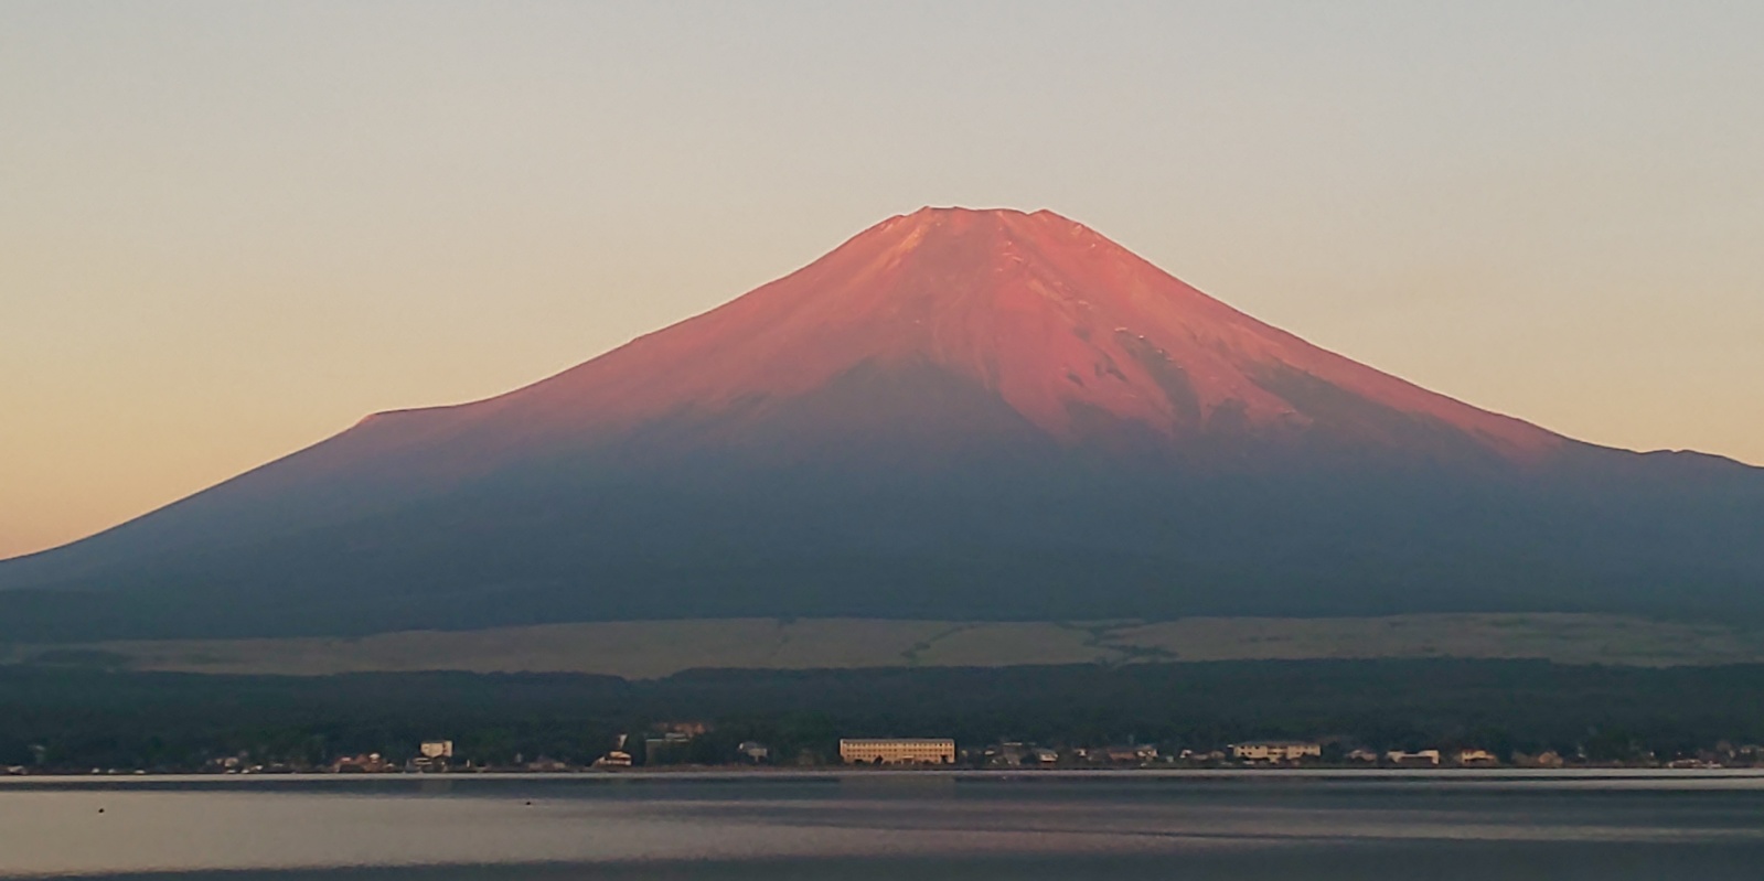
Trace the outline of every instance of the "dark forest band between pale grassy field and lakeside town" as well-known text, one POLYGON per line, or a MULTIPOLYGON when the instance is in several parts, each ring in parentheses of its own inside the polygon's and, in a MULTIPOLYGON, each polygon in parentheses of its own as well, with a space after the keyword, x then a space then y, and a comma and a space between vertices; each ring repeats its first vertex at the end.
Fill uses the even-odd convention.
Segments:
POLYGON ((1623 761, 1764 742, 1764 666, 1302 661, 688 671, 640 682, 0 666, 0 765, 64 770, 198 768, 236 754, 296 766, 356 752, 404 761, 423 738, 452 738, 460 759, 480 765, 587 763, 621 733, 683 721, 711 731, 667 761, 730 763, 744 740, 771 747, 774 763, 829 761, 840 737, 1191 749, 1293 737, 1623 761))

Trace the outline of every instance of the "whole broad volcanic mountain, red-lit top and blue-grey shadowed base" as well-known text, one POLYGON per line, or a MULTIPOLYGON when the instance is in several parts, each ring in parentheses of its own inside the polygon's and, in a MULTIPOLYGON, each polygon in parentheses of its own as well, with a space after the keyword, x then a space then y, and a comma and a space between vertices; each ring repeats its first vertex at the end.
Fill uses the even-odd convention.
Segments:
POLYGON ((1051 211, 924 208, 533 386, 4 564, 0 606, 71 636, 1655 610, 1764 587, 1760 500, 1755 469, 1469 407, 1051 211))

